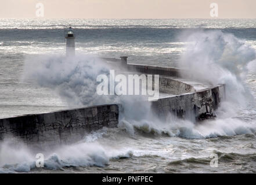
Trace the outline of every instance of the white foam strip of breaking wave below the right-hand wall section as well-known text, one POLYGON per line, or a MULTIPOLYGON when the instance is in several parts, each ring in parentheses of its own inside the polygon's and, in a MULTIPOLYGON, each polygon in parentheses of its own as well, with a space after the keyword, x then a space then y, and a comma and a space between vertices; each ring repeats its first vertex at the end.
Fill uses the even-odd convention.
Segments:
POLYGON ((189 120, 169 119, 162 121, 126 121, 122 120, 122 127, 129 133, 136 131, 153 135, 178 136, 188 139, 215 138, 217 136, 232 136, 239 134, 255 134, 255 123, 246 123, 233 117, 205 120, 194 124, 189 120))

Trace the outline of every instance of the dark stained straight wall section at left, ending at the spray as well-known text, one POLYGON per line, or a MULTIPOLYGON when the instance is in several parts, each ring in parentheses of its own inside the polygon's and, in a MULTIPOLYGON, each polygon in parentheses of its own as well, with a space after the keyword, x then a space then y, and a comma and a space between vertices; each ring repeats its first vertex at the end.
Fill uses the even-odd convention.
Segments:
POLYGON ((10 135, 27 144, 56 145, 80 140, 86 132, 117 124, 118 105, 91 106, 0 119, 0 139, 10 135))

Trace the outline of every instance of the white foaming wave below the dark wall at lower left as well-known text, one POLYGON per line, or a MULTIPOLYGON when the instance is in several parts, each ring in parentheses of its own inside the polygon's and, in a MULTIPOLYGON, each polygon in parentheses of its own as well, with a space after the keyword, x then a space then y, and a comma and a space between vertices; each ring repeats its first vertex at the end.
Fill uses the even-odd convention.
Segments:
MULTIPOLYGON (((37 169, 35 151, 24 145, 10 145, 8 141, 0 143, 0 173, 30 172, 37 169)), ((105 166, 111 158, 130 157, 129 149, 114 149, 102 146, 98 142, 79 142, 73 145, 59 146, 56 150, 45 151, 44 169, 63 169, 70 166, 105 166)))

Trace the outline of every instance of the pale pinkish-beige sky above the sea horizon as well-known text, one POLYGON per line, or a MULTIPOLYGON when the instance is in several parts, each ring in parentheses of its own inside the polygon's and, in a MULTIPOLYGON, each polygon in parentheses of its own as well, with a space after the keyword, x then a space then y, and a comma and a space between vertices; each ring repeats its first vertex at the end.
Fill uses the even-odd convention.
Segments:
POLYGON ((0 18, 256 18, 256 0, 0 0, 0 5, 0 18), (211 17, 211 3, 217 3, 218 17, 211 17))

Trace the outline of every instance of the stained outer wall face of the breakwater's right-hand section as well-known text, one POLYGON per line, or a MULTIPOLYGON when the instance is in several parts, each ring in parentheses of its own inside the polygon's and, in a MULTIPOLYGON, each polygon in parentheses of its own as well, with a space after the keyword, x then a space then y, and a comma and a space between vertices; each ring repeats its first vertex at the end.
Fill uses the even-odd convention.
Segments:
POLYGON ((152 102, 152 108, 159 117, 164 118, 173 113, 193 121, 203 113, 214 113, 223 98, 225 86, 221 84, 205 90, 158 99, 152 102))

